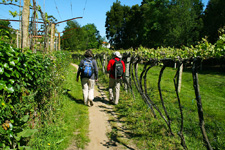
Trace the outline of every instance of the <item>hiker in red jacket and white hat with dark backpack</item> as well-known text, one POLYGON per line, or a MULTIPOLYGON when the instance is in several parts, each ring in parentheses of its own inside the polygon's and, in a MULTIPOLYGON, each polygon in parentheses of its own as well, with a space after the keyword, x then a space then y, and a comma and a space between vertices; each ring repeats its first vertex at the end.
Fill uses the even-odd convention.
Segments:
POLYGON ((109 73, 109 101, 115 105, 119 102, 120 81, 125 73, 125 64, 121 59, 120 52, 116 51, 113 53, 113 59, 107 65, 107 72, 109 73))

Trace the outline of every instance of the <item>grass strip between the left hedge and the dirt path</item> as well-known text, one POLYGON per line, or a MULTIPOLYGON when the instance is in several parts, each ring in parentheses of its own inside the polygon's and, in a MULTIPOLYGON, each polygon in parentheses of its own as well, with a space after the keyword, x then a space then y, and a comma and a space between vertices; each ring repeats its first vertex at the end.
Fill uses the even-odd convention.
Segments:
POLYGON ((76 82, 76 69, 69 66, 68 74, 55 99, 55 113, 51 119, 42 120, 39 132, 34 135, 29 145, 33 149, 66 149, 71 142, 77 148, 84 148, 88 138, 88 107, 83 105, 80 82, 76 82))

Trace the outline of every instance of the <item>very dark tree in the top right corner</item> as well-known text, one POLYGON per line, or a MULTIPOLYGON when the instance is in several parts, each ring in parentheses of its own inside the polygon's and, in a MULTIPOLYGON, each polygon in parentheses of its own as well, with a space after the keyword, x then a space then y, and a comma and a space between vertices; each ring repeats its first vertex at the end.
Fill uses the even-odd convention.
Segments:
POLYGON ((208 36, 211 43, 218 40, 218 30, 225 26, 225 1, 210 0, 204 13, 204 31, 203 35, 208 36))

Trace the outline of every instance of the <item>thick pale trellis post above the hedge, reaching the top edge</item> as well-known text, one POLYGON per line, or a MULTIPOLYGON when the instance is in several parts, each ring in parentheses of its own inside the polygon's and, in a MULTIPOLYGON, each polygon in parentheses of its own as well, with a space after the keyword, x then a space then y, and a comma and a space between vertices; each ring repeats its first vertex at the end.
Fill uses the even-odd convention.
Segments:
POLYGON ((28 47, 28 27, 29 27, 29 16, 30 16, 30 0, 23 1, 22 11, 22 49, 28 47))

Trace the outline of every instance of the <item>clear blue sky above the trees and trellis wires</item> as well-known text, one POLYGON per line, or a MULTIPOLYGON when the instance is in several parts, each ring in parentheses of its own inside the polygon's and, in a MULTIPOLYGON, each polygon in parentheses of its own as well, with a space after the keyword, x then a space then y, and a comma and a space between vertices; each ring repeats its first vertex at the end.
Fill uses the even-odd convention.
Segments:
MULTIPOLYGON (((2 0, 0 0, 1 2, 2 0)), ((23 5, 23 0, 21 0, 23 5)), ((206 6, 209 0, 202 0, 206 6)), ((19 4, 20 0, 16 4, 19 4)), ((32 2, 32 1, 31 1, 32 2)), ((53 15, 58 22, 82 17, 76 21, 84 26, 93 23, 102 37, 105 37, 105 20, 106 12, 110 10, 113 2, 116 0, 36 0, 37 5, 40 5, 44 12, 48 15, 53 15)), ((142 0, 120 0, 121 5, 133 6, 140 5, 142 0)), ((0 4, 0 19, 19 20, 19 17, 13 18, 10 11, 19 12, 19 7, 0 4)), ((22 10, 21 10, 22 11, 22 10)), ((32 11, 31 11, 32 12, 32 11)), ((39 16, 39 18, 41 18, 39 16)), ((19 22, 10 22, 14 29, 19 29, 19 22)), ((57 31, 62 32, 66 26, 66 22, 60 23, 57 26, 57 31)))

